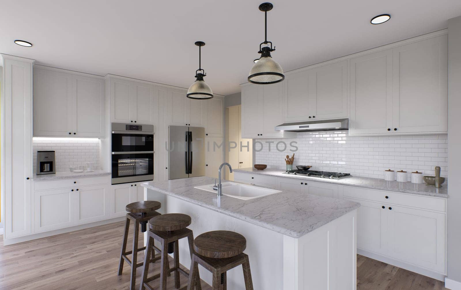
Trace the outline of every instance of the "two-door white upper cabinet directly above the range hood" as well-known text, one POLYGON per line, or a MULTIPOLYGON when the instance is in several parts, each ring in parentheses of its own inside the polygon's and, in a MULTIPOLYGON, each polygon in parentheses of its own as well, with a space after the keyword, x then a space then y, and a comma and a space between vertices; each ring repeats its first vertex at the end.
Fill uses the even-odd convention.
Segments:
POLYGON ((287 75, 284 122, 347 117, 347 60, 287 75))

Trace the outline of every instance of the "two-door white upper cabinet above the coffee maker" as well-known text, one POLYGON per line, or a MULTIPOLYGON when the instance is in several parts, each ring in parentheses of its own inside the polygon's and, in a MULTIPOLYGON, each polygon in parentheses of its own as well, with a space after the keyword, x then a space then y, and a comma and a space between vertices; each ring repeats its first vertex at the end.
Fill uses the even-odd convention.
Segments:
POLYGON ((34 136, 105 137, 102 77, 34 69, 34 136))

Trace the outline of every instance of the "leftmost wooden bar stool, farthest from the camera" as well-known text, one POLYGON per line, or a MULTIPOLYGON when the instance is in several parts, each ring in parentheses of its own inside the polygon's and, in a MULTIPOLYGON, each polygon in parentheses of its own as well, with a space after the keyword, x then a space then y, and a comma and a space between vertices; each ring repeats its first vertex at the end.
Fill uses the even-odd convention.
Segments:
MULTIPOLYGON (((146 228, 147 228, 146 224, 148 220, 150 220, 154 216, 160 215, 160 213, 155 211, 157 209, 160 209, 160 207, 161 207, 161 204, 153 200, 130 203, 126 206, 126 211, 128 213, 126 214, 125 232, 123 235, 122 251, 120 253, 120 262, 118 263, 118 275, 122 275, 123 263, 126 260, 128 265, 130 265, 131 267, 130 290, 135 289, 136 268, 141 267, 143 265, 142 262, 141 263, 137 262, 138 252, 146 249, 146 247, 142 247, 138 249, 139 226, 141 225, 141 232, 146 232, 146 228), (130 220, 132 220, 134 223, 133 249, 127 252, 126 242, 128 240, 128 230, 130 228, 130 220), (130 255, 130 254, 133 254, 131 261, 127 257, 127 255, 130 255)), ((160 249, 157 249, 157 250, 160 253, 160 249)), ((155 252, 152 252, 152 253, 155 253, 155 252)), ((154 255, 153 255, 153 258, 155 258, 154 255)))

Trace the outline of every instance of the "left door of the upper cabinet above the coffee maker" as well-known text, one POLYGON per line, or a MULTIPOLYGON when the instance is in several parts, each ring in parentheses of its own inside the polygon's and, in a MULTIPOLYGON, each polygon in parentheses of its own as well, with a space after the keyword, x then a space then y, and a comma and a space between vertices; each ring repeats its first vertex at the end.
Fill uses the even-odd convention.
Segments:
POLYGON ((72 127, 72 75, 34 70, 34 135, 69 136, 72 127))

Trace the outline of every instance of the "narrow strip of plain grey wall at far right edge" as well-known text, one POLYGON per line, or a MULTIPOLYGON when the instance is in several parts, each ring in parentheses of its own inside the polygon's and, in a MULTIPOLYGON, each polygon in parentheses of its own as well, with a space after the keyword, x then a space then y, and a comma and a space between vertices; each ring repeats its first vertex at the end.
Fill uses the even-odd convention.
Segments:
MULTIPOLYGON (((461 289, 461 17, 448 21, 448 278, 460 282, 461 289)), ((453 288, 454 289, 454 288, 453 288)))

